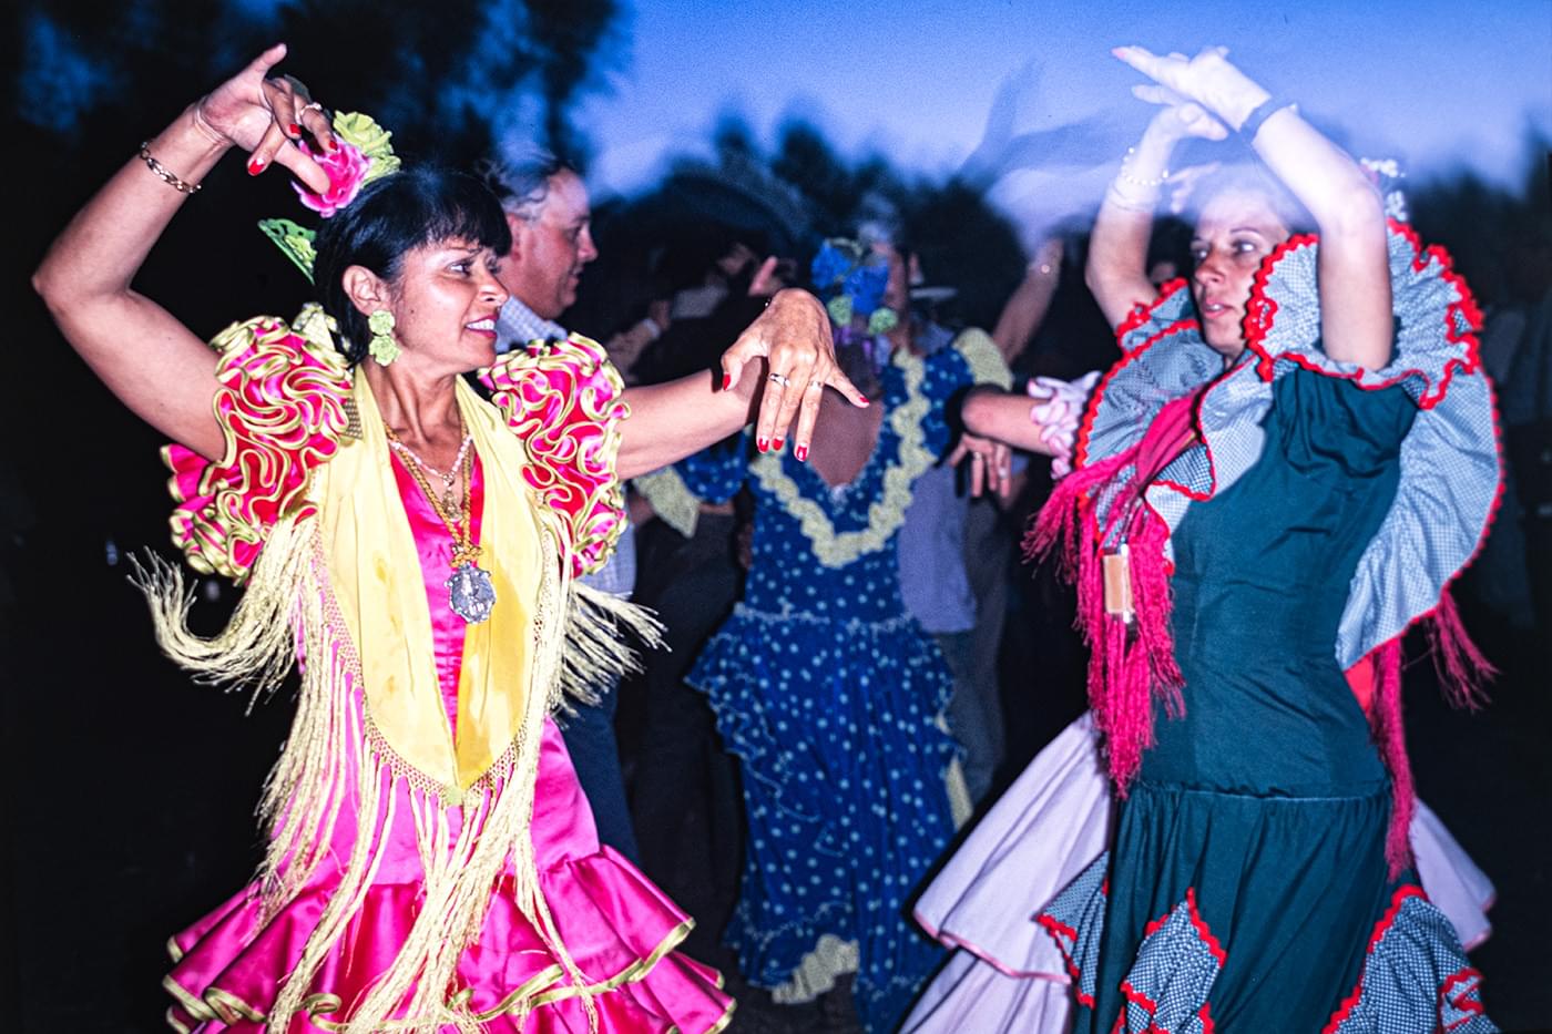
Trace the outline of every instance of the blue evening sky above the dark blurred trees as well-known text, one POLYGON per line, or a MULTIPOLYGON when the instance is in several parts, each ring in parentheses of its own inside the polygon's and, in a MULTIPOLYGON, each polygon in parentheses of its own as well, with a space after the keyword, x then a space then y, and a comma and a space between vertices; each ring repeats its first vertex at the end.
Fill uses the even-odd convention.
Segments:
POLYGON ((1141 79, 1108 53, 1127 42, 1225 43, 1355 151, 1403 157, 1414 177, 1462 163, 1518 177, 1529 134, 1552 137, 1552 0, 639 0, 619 39, 621 67, 579 112, 602 189, 705 151, 725 110, 765 143, 796 115, 849 157, 880 151, 933 174, 975 149, 999 87, 1017 130, 1093 115, 1141 129, 1145 106, 1127 92, 1141 79))

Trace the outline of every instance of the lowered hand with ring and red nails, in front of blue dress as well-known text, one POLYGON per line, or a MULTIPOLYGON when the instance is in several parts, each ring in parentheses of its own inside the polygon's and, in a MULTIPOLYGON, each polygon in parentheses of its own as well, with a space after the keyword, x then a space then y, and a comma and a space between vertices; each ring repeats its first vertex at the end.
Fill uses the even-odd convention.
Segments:
POLYGON ((796 289, 778 292, 765 312, 722 354, 722 390, 740 385, 745 394, 764 388, 754 422, 754 441, 762 452, 779 449, 796 418, 793 455, 798 460, 809 458, 826 387, 840 391, 852 405, 868 405, 835 362, 835 338, 824 306, 809 292, 796 289), (759 366, 748 365, 754 359, 767 360, 764 383, 745 382, 745 377, 757 376, 759 366))

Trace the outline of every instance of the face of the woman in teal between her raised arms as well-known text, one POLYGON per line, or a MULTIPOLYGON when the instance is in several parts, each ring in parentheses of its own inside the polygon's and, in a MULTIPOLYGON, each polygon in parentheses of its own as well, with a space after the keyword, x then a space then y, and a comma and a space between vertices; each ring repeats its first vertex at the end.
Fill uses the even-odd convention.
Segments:
POLYGON ((1245 351, 1245 306, 1256 270, 1288 236, 1265 194, 1228 189, 1203 205, 1190 239, 1190 292, 1203 337, 1225 359, 1245 351))

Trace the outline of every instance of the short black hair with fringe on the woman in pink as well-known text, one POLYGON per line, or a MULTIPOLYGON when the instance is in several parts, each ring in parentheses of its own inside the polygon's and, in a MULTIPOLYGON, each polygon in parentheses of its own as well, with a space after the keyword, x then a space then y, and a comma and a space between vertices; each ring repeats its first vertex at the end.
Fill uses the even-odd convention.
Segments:
POLYGON ((314 289, 324 311, 340 321, 338 348, 351 365, 366 356, 371 331, 345 293, 345 270, 362 265, 394 279, 405 252, 459 238, 506 255, 512 230, 501 205, 472 175, 436 166, 407 168, 362 188, 346 208, 318 228, 314 289))

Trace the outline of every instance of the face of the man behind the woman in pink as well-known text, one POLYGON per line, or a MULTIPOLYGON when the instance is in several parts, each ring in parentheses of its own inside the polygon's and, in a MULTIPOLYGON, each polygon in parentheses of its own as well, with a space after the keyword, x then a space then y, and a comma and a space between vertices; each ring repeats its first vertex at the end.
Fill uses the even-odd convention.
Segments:
POLYGON ((556 172, 545 200, 526 216, 506 216, 512 250, 501 262, 501 284, 535 315, 559 320, 577 300, 582 267, 598 258, 587 188, 574 172, 556 172))

